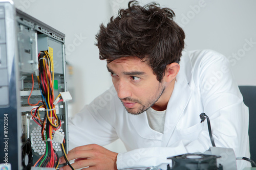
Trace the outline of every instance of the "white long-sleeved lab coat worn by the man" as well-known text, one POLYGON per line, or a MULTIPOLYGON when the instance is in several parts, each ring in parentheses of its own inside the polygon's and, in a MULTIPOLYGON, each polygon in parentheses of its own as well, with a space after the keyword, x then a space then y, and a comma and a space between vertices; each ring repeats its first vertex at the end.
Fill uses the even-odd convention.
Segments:
MULTIPOLYGON (((150 128, 145 112, 127 113, 111 87, 69 119, 70 149, 120 138, 128 152, 118 154, 118 169, 171 163, 167 157, 203 153, 211 147, 207 121, 200 123, 204 112, 217 147, 233 148, 236 157, 250 157, 248 108, 229 61, 214 51, 193 51, 183 53, 180 66, 163 134, 150 128)), ((238 169, 249 166, 242 160, 237 164, 238 169)), ((165 164, 160 167, 166 169, 165 164)))

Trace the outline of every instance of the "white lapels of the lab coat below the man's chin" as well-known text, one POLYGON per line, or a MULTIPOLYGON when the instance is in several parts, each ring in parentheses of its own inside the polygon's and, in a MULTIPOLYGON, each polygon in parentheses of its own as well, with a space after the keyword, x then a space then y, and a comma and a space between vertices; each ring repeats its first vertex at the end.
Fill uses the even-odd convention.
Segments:
POLYGON ((181 69, 176 78, 174 91, 167 105, 163 134, 150 128, 146 112, 139 115, 129 114, 132 125, 141 137, 152 140, 163 140, 163 137, 170 138, 172 135, 191 95, 188 83, 191 77, 192 66, 188 55, 182 57, 180 65, 181 69))

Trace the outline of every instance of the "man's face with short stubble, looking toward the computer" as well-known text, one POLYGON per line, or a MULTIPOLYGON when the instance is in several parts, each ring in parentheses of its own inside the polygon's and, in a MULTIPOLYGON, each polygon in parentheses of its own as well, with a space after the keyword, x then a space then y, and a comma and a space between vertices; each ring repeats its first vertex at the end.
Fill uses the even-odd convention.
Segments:
POLYGON ((140 114, 157 104, 164 93, 164 84, 157 80, 152 68, 137 57, 122 57, 107 67, 118 98, 131 114, 140 114))

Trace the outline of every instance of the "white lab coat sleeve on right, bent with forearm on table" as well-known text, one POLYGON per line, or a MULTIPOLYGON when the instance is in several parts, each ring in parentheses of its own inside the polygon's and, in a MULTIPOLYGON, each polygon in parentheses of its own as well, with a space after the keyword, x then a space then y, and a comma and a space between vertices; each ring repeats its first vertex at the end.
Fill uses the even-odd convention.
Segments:
MULTIPOLYGON (((200 88, 203 109, 210 118, 216 146, 232 148, 236 157, 249 157, 248 108, 244 105, 238 85, 234 81, 229 61, 216 52, 200 52, 196 55, 202 57, 193 65, 197 68, 194 69, 196 71, 193 72, 190 83, 200 88)), ((166 159, 170 156, 205 152, 212 145, 206 120, 204 124, 197 140, 185 142, 184 139, 174 147, 145 148, 118 154, 118 169, 158 166, 170 163, 166 159)), ((238 163, 238 169, 247 165, 249 164, 246 161, 242 161, 238 163)), ((166 169, 166 166, 162 168, 166 169)))

